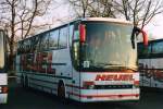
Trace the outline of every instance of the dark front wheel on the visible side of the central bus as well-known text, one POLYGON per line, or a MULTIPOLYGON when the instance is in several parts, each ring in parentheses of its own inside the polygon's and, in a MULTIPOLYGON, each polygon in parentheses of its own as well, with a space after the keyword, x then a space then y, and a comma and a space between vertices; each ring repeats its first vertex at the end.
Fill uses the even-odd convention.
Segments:
POLYGON ((61 98, 61 99, 65 98, 65 87, 64 87, 63 82, 59 83, 59 86, 58 86, 58 97, 61 98))

